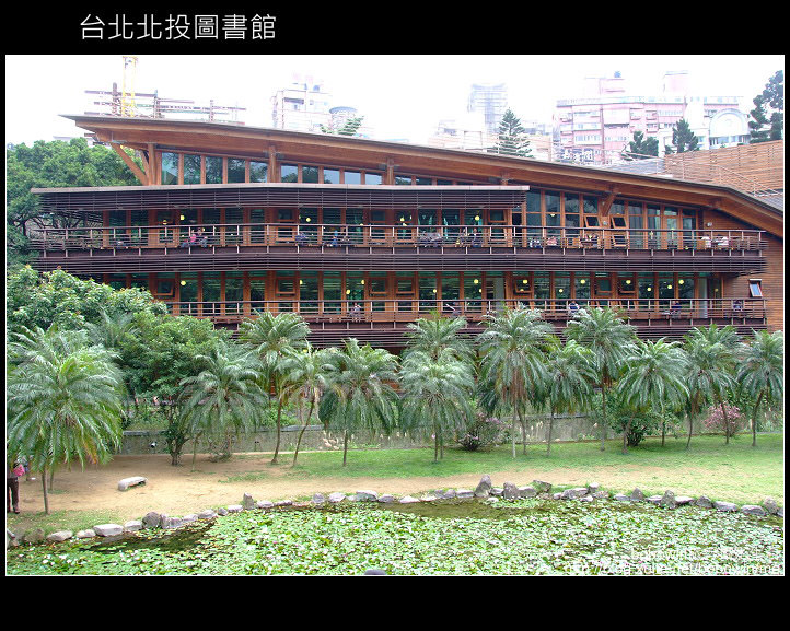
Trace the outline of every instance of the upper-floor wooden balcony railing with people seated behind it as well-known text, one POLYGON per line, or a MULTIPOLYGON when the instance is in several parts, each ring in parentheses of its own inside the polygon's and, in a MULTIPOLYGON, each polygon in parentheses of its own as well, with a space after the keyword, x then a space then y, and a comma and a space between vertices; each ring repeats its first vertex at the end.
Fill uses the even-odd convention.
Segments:
POLYGON ((760 250, 763 231, 581 229, 522 225, 431 226, 350 224, 210 224, 43 229, 32 247, 47 252, 300 246, 637 250, 760 250))

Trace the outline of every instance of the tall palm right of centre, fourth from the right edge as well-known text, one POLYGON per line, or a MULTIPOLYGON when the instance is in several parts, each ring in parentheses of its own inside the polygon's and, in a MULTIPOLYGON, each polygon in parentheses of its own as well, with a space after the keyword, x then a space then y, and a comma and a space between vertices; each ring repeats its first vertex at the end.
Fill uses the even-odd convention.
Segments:
POLYGON ((624 359, 634 348, 636 328, 625 323, 612 308, 581 309, 568 320, 568 339, 593 352, 597 385, 603 395, 601 451, 606 448, 606 388, 619 376, 624 359))

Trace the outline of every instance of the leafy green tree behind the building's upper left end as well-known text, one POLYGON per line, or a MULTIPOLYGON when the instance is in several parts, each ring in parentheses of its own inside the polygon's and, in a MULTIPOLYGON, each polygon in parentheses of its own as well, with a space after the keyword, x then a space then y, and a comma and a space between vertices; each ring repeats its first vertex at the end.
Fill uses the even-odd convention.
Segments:
MULTIPOLYGON (((138 161, 139 162, 139 161, 138 161)), ((73 186, 133 186, 139 182, 108 147, 88 145, 84 138, 65 142, 36 140, 33 147, 18 144, 5 151, 5 229, 8 264, 25 262, 30 256, 30 226, 57 224, 72 227, 75 217, 44 213, 32 188, 73 186)))

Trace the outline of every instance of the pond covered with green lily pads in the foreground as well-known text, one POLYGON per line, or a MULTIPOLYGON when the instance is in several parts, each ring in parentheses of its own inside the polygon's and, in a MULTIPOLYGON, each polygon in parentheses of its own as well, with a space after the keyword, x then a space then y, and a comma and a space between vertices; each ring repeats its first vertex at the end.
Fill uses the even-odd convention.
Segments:
POLYGON ((252 511, 12 549, 8 574, 783 575, 783 521, 557 500, 252 511))

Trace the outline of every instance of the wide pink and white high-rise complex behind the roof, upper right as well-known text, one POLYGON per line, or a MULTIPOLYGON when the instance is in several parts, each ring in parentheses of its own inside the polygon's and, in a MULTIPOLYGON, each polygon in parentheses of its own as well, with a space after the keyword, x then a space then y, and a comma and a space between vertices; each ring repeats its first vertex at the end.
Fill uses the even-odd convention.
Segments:
POLYGON ((748 142, 746 115, 737 96, 700 96, 693 93, 688 73, 666 72, 662 91, 634 95, 619 72, 589 78, 582 96, 558 101, 555 126, 558 157, 591 164, 618 162, 634 132, 659 140, 659 155, 672 145, 672 130, 686 119, 699 138, 700 149, 748 142))

